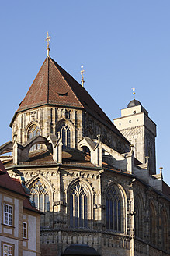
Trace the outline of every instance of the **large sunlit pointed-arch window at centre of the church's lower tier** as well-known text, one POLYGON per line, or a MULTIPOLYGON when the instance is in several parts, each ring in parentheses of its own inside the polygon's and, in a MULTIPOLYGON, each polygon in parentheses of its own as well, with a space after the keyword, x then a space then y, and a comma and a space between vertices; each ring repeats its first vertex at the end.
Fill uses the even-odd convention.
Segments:
POLYGON ((75 183, 70 192, 70 226, 88 226, 88 193, 82 183, 75 183))

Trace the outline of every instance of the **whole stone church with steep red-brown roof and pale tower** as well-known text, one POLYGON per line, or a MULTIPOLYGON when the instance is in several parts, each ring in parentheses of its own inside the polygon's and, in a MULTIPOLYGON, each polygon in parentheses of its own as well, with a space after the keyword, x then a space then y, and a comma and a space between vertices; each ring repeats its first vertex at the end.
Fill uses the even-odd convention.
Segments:
POLYGON ((141 102, 114 125, 47 56, 10 126, 1 160, 45 212, 42 256, 170 254, 170 188, 156 174, 156 126, 141 102))

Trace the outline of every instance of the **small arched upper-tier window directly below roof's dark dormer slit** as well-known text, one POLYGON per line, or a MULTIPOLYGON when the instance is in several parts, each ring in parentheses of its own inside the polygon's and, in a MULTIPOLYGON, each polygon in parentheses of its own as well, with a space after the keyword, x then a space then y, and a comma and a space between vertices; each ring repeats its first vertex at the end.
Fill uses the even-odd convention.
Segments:
POLYGON ((71 148, 71 130, 67 123, 62 123, 57 132, 60 132, 64 148, 71 148))

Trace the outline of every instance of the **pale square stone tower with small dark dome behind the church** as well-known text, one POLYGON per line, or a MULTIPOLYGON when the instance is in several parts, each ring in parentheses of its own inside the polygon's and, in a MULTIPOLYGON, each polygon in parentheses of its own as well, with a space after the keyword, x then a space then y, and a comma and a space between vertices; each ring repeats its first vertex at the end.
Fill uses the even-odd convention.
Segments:
POLYGON ((136 99, 121 110, 121 117, 114 119, 118 130, 134 144, 134 156, 141 163, 149 162, 149 171, 156 173, 155 138, 156 124, 147 110, 136 99))

